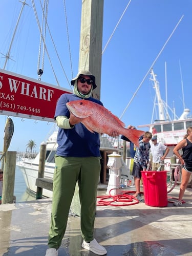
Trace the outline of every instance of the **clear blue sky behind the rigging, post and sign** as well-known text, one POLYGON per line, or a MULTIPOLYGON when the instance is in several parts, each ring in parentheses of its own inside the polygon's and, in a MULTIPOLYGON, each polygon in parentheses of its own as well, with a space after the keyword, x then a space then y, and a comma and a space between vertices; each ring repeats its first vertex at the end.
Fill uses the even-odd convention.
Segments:
MULTIPOLYGON (((71 80, 72 71, 63 1, 49 2, 48 24, 67 78, 71 80)), ((125 0, 104 0, 102 48, 106 45, 129 2, 125 0)), ((8 61, 6 70, 38 79, 37 65, 40 34, 32 3, 30 0, 27 3, 29 6, 26 5, 24 8, 12 45, 11 56, 14 61, 8 61)), ((35 1, 35 4, 41 22, 39 1, 35 1)), ((21 7, 22 4, 17 0, 1 0, 0 2, 0 68, 4 67, 5 58, 3 58, 2 53, 6 54, 8 51, 21 7)), ((185 108, 191 109, 191 9, 191 0, 132 0, 126 9, 108 47, 102 55, 101 67, 101 101, 105 108, 118 117, 121 117, 127 104, 129 104, 121 118, 126 126, 129 124, 137 126, 151 122, 155 92, 150 81, 150 74, 146 76, 131 103, 130 100, 182 15, 184 16, 180 24, 167 42, 153 69, 160 83, 161 97, 165 100, 166 62, 167 98, 170 108, 175 108, 178 116, 183 112, 183 104, 185 104, 185 108), (180 72, 182 72, 182 79, 180 72)), ((73 76, 75 76, 78 72, 81 1, 66 1, 66 11, 73 76)), ((59 85, 71 89, 56 59, 48 32, 46 44, 59 85)), ((40 67, 41 63, 42 60, 40 60, 40 67)), ((41 76, 41 80, 57 85, 46 54, 44 74, 41 76)), ((7 116, 0 115, 0 150, 3 149, 6 118, 7 116)), ((36 142, 36 151, 38 151, 40 143, 46 140, 52 131, 52 123, 29 120, 27 118, 24 121, 16 117, 12 119, 15 130, 9 148, 10 151, 25 151, 26 144, 31 139, 36 142)), ((156 118, 154 117, 154 119, 156 118)))

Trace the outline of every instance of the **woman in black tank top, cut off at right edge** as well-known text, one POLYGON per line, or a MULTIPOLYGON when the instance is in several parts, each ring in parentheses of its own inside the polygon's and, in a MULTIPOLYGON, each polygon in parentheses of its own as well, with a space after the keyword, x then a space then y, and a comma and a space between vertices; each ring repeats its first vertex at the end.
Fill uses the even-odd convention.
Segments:
POLYGON ((182 181, 180 185, 179 198, 174 202, 174 206, 182 205, 182 198, 192 174, 192 127, 188 127, 184 139, 174 148, 174 154, 179 158, 182 167, 182 181), (182 149, 182 156, 179 151, 182 149))

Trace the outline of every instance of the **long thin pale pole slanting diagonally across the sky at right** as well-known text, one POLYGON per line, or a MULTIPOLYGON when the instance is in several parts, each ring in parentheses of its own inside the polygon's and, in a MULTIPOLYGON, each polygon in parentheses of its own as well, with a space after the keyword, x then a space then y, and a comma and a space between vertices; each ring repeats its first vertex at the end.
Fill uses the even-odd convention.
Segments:
POLYGON ((129 105, 131 104, 132 100, 135 98, 137 92, 139 91, 140 87, 142 86, 142 84, 143 84, 144 80, 146 79, 148 73, 150 73, 150 71, 151 71, 151 69, 153 68, 155 62, 157 61, 157 59, 159 58, 160 54, 161 54, 162 51, 164 50, 164 48, 165 48, 167 42, 169 41, 170 37, 172 37, 172 35, 174 34, 175 30, 176 30, 177 27, 179 26, 179 24, 180 24, 180 22, 181 22, 181 20, 182 20, 183 17, 184 17, 184 15, 181 16, 181 18, 180 18, 179 22, 177 23, 177 25, 175 26, 174 30, 173 30, 172 33, 169 35, 169 37, 168 37, 168 39, 166 40, 165 44, 163 45, 161 51, 159 52, 159 54, 158 54, 157 57, 155 58, 154 62, 152 63, 152 66, 148 69, 147 73, 146 73, 145 76, 143 77, 143 80, 140 82, 140 84, 139 84, 137 90, 136 90, 135 93, 133 94, 133 96, 132 96, 130 102, 126 105, 126 108, 124 109, 124 111, 123 111, 123 113, 121 114, 121 116, 120 116, 119 119, 122 118, 122 116, 123 116, 124 113, 126 112, 127 108, 128 108, 129 105))

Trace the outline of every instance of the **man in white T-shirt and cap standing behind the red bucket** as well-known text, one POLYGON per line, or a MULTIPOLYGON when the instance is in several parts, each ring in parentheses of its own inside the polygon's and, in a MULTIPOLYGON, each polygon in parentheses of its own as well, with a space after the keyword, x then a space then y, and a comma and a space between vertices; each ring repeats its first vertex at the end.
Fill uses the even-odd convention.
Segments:
POLYGON ((157 142, 157 136, 153 136, 151 143, 152 170, 160 170, 160 168, 162 170, 164 169, 164 159, 168 152, 169 148, 163 143, 157 142))

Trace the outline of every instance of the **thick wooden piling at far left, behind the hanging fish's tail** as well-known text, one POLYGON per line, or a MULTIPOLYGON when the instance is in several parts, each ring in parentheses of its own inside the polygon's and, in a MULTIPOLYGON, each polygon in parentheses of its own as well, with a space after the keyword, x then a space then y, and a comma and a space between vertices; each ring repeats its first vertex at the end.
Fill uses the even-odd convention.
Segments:
POLYGON ((4 164, 2 204, 14 203, 16 151, 8 151, 4 164))

